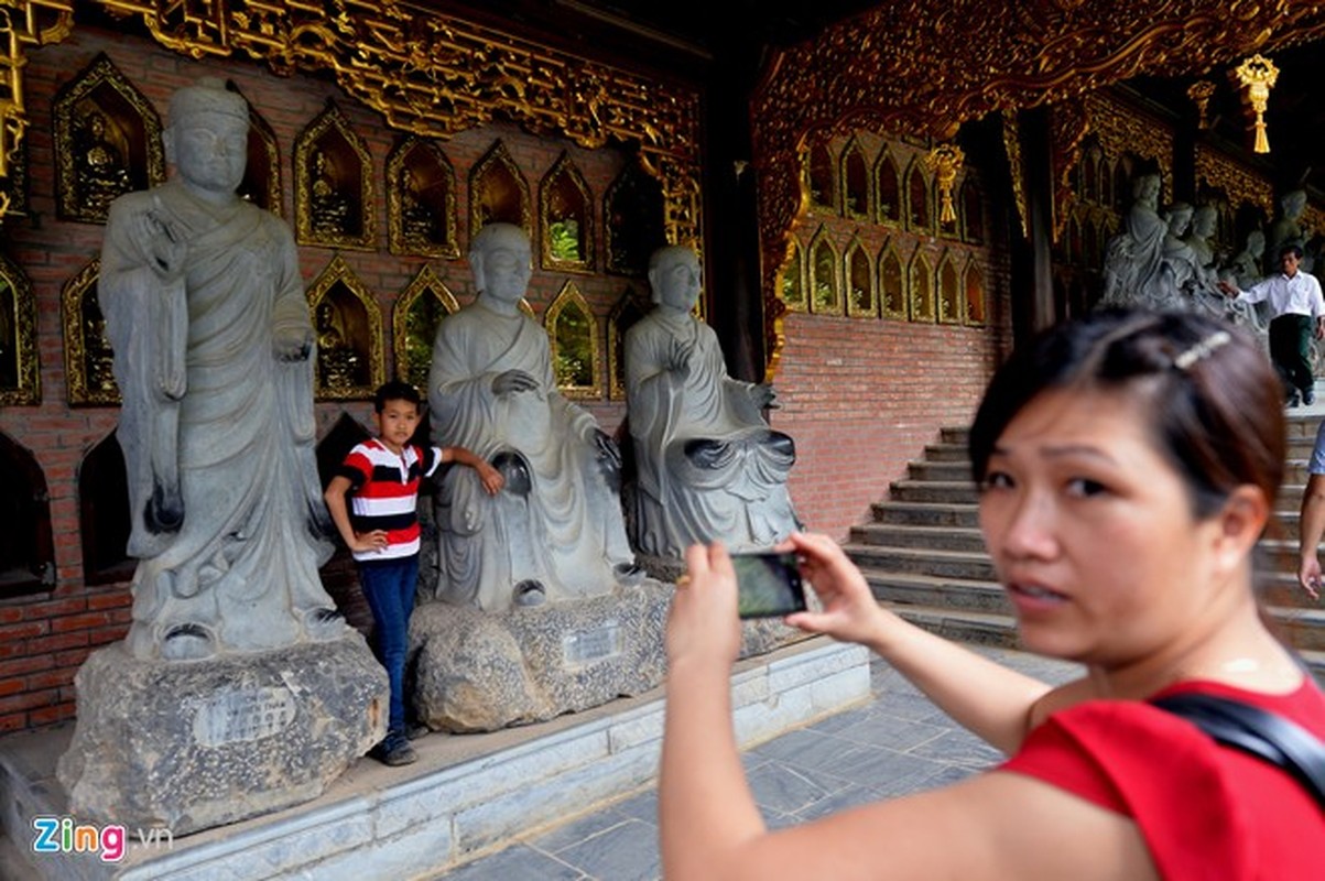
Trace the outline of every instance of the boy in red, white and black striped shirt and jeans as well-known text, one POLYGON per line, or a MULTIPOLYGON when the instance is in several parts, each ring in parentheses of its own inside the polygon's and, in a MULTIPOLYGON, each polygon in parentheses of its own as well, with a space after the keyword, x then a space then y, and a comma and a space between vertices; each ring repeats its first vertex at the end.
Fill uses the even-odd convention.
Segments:
POLYGON ((484 489, 496 494, 502 476, 464 446, 420 448, 409 442, 420 420, 419 391, 392 380, 372 399, 378 436, 358 444, 327 484, 327 510, 354 554, 363 596, 378 631, 378 658, 391 681, 387 737, 374 754, 387 764, 409 764, 417 756, 405 729, 404 670, 409 615, 419 580, 419 481, 443 462, 478 472, 484 489), (352 513, 346 505, 351 495, 352 513))

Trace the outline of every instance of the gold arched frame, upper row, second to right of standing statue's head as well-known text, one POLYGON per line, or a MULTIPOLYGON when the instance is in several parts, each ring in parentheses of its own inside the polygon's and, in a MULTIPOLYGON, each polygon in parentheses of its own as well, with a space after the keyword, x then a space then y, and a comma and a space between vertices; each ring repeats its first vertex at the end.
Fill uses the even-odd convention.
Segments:
POLYGON ((294 233, 301 245, 326 245, 375 250, 378 246, 376 203, 372 193, 372 155, 363 138, 334 99, 294 140, 294 233), (329 152, 327 147, 334 147, 329 152), (327 232, 315 228, 313 217, 313 162, 315 151, 327 155, 337 168, 331 176, 358 215, 358 229, 327 232), (348 192, 344 192, 348 188, 348 192))

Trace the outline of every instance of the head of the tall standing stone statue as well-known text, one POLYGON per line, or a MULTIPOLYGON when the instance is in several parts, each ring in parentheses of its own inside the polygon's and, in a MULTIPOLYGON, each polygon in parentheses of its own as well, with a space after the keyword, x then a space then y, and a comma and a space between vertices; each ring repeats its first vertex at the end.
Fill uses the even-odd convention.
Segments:
POLYGON ((248 102, 216 77, 200 77, 170 99, 166 159, 195 192, 233 195, 248 164, 248 102))

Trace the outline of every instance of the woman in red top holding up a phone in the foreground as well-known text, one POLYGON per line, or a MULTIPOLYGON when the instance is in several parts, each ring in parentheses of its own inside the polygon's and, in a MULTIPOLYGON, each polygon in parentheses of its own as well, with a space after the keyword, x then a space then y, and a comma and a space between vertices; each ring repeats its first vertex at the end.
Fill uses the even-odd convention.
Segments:
POLYGON ((868 645, 1011 756, 942 790, 767 831, 731 734, 730 558, 690 547, 666 635, 666 876, 1322 877, 1305 790, 1146 703, 1230 696, 1325 737, 1325 697, 1252 595, 1284 464, 1277 389, 1255 340, 1191 314, 1092 315, 998 371, 971 428, 980 527, 1023 644, 1084 666, 1060 688, 882 609, 832 539, 790 539, 824 608, 788 623, 868 645))

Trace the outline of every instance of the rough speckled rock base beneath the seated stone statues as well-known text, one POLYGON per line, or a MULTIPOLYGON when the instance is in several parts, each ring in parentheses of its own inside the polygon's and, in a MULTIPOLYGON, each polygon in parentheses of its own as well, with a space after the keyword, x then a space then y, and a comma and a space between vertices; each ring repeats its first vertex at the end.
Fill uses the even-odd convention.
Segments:
MULTIPOLYGON (((409 621, 413 707, 435 731, 543 722, 662 681, 672 584, 509 612, 429 603, 409 621)), ((780 620, 746 621, 741 657, 806 639, 780 620)))

